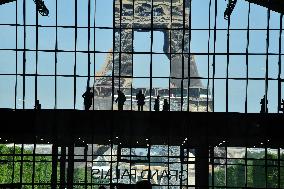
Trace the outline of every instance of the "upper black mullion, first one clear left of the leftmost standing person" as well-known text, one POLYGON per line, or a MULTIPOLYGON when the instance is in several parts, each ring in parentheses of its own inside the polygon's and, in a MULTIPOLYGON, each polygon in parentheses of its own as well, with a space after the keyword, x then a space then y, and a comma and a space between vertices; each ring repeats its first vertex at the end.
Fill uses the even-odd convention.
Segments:
POLYGON ((78 32, 78 12, 77 12, 77 0, 75 0, 75 64, 74 64, 74 99, 73 99, 73 109, 76 108, 76 82, 77 82, 77 32, 78 32))

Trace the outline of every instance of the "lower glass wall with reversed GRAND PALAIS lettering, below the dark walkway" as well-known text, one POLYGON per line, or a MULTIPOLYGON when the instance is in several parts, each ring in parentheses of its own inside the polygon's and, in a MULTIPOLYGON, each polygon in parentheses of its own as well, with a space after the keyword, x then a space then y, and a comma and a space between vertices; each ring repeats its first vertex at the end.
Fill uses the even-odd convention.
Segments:
MULTIPOLYGON (((86 144, 0 145, 0 186, 22 188, 98 188, 135 186, 150 180, 154 188, 198 188, 196 151, 171 145, 86 144), (53 162, 55 158, 55 163, 53 162), (72 173, 70 174, 70 169, 72 173), (54 185, 53 185, 54 186, 54 185)), ((145 144, 148 142, 144 142, 145 144)), ((261 146, 261 145, 260 145, 261 146)), ((284 150, 268 147, 210 148, 209 188, 284 188, 284 150)))

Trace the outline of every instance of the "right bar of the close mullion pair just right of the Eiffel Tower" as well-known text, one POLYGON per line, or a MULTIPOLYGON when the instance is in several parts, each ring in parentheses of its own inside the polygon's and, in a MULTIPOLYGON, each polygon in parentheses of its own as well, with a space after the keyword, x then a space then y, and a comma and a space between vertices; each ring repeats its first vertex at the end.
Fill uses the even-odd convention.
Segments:
POLYGON ((213 83, 212 83, 212 112, 215 111, 215 64, 216 64, 216 38, 217 38, 217 6, 218 2, 215 0, 215 19, 214 19, 214 48, 213 48, 213 83))

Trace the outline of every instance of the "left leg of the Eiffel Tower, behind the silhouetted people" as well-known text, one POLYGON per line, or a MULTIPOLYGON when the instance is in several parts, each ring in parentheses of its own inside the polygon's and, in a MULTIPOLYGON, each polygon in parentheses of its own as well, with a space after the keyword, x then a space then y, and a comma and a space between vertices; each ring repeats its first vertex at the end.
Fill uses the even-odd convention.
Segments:
MULTIPOLYGON (((125 95, 130 95, 127 93, 132 85, 132 38, 132 30, 115 31, 114 53, 108 54, 104 67, 100 70, 101 77, 97 78, 94 84, 94 109, 112 109, 112 93, 116 94, 118 89, 125 95), (100 92, 102 88, 105 93, 99 94, 97 91, 100 92)), ((117 109, 116 104, 114 109, 117 109)), ((127 105, 125 109, 128 109, 127 105)))

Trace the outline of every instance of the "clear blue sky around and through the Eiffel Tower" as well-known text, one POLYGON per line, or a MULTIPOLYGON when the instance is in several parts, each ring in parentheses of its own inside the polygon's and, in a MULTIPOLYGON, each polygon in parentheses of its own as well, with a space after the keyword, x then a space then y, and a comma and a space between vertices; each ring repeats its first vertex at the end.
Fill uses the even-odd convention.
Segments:
MULTIPOLYGON (((214 2, 214 0, 212 0, 214 2)), ((79 0, 78 4, 78 26, 86 27, 88 25, 88 1, 79 0)), ((112 27, 113 26, 113 2, 112 0, 91 0, 91 23, 94 25, 94 19, 97 27, 112 27), (94 15, 94 13, 96 13, 94 15)), ((26 0, 27 3, 27 24, 35 24, 35 5, 32 0, 26 0)), ((18 0, 18 24, 23 24, 22 16, 23 0, 18 0)), ((43 26, 55 25, 55 1, 45 0, 46 6, 49 8, 50 16, 39 16, 39 24, 43 26)), ((247 28, 247 12, 248 2, 239 0, 235 10, 231 16, 231 29, 246 29, 247 28)), ((223 18, 223 12, 226 7, 226 1, 218 1, 218 14, 217 14, 217 28, 225 29, 217 31, 216 39, 216 52, 227 52, 227 21, 223 18)), ((74 26, 74 0, 59 0, 58 1, 58 25, 74 26)), ((214 28, 214 3, 211 7, 211 29, 214 28)), ((192 53, 207 53, 207 44, 209 32, 209 0, 192 0, 192 40, 191 52, 192 53)), ((15 24, 16 23, 16 3, 9 3, 0 6, 0 24, 15 24)), ((271 11, 270 28, 279 29, 280 15, 271 11)), ((266 29, 267 27, 267 10, 266 8, 251 5, 250 13, 250 28, 266 29)), ((28 49, 35 49, 35 27, 27 27, 27 43, 28 49)), ((18 48, 23 48, 23 27, 18 27, 18 48)), ((86 51, 88 49, 88 39, 86 28, 78 29, 77 50, 86 51)), ((111 29, 96 29, 95 40, 94 30, 91 29, 91 50, 108 52, 112 48, 113 31, 111 29), (95 42, 94 42, 95 41, 95 42)), ((210 52, 213 52, 213 30, 210 35, 210 52)), ((134 50, 150 51, 151 47, 151 33, 150 32, 135 32, 134 50)), ((230 31, 230 52, 245 53, 247 32, 245 30, 230 31)), ((58 48, 61 50, 74 50, 75 30, 72 28, 58 28, 58 48)), ((55 48, 55 28, 42 27, 39 28, 39 49, 54 50, 55 48)), ((265 53, 266 52, 266 30, 253 30, 250 31, 250 53, 265 53)), ((270 53, 279 52, 279 31, 270 31, 270 53)), ((163 33, 159 31, 154 32, 154 52, 163 52, 163 33)), ((284 46, 282 37, 282 52, 284 46)), ((15 49, 16 47, 16 27, 1 25, 0 26, 0 49, 15 49)), ((26 73, 35 73, 35 52, 28 51, 26 53, 26 73)), ((107 53, 95 54, 96 70, 99 70, 105 60, 107 53)), ((18 73, 23 72, 22 68, 22 53, 18 52, 18 73)), ((16 70, 16 52, 0 50, 0 73, 13 74, 16 70)), ((38 53, 38 73, 39 74, 54 74, 54 53, 40 52, 38 53)), ((213 76, 213 56, 196 55, 195 60, 198 71, 201 77, 208 76, 208 58, 209 58, 209 76, 213 76)), ((269 77, 278 77, 278 55, 271 55, 269 59, 269 77)), ((283 56, 282 56, 283 58, 283 56)), ((81 76, 87 75, 87 53, 77 53, 77 74, 81 76)), ((72 52, 58 53, 58 74, 73 75, 75 56, 72 52)), ((91 55, 91 67, 94 67, 94 55, 91 55)), ((249 77, 264 78, 265 77, 265 63, 266 55, 250 55, 249 56, 249 77)), ((150 55, 134 55, 134 76, 148 76, 150 66, 150 55)), ((216 56, 216 73, 215 77, 224 78, 215 80, 215 111, 225 111, 225 91, 226 91, 226 66, 227 56, 216 56)), ((284 66, 282 65, 282 68, 284 66)), ((282 77, 283 72, 282 69, 282 77)), ((91 71, 94 74, 94 70, 91 71)), ((154 76, 169 76, 169 60, 163 54, 153 55, 153 75, 154 76)), ((231 55, 229 64, 229 77, 246 77, 246 57, 245 55, 231 55)), ((17 108, 22 108, 22 77, 17 77, 17 108)), ((86 77, 77 78, 76 90, 76 108, 83 108, 82 93, 86 87, 86 77)), ((0 76, 0 108, 13 108, 15 98, 15 76, 0 76)), ((26 108, 33 108, 34 105, 34 77, 26 77, 26 108)), ((92 81, 91 81, 92 82, 92 81)), ((202 80, 204 86, 207 85, 207 79, 202 80)), ((69 109, 73 108, 73 84, 72 77, 58 77, 57 78, 57 108, 69 109)), ((149 87, 149 80, 147 79, 134 79, 134 87, 149 87)), ((153 80, 153 87, 167 87, 168 79, 155 79, 153 80)), ((212 80, 209 83, 212 88, 212 80)), ((229 111, 244 112, 245 102, 245 80, 230 80, 229 81, 229 111)), ((248 85, 248 111, 259 112, 260 99, 264 95, 265 83, 264 81, 251 80, 248 85)), ((55 104, 54 96, 54 77, 38 77, 38 98, 43 108, 53 109, 55 104)), ((282 89, 282 93, 284 90, 282 89)), ((270 81, 268 88, 268 101, 269 111, 277 111, 277 96, 278 88, 277 81, 270 81)))

